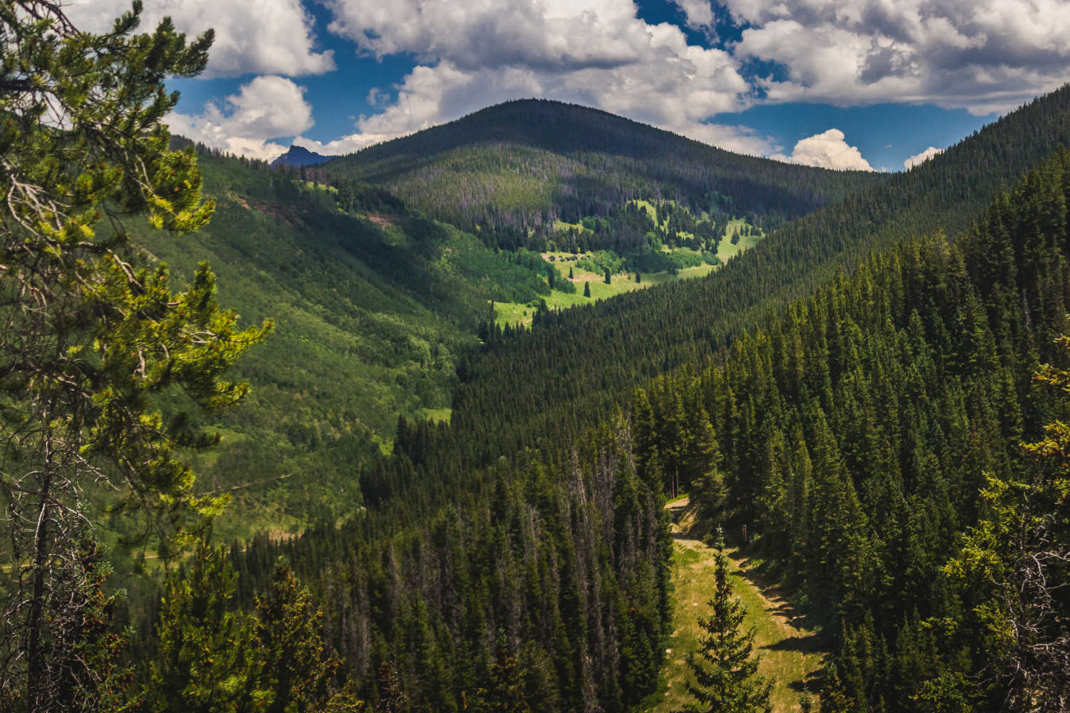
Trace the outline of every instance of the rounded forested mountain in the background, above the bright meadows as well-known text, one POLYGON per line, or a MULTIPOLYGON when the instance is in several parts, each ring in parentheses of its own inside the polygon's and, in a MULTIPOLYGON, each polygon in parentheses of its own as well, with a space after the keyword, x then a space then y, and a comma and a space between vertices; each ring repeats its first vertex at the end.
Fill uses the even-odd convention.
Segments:
POLYGON ((462 229, 502 232, 501 243, 537 241, 555 220, 608 216, 633 199, 677 200, 696 215, 724 212, 769 229, 885 180, 733 154, 544 99, 490 107, 321 168, 387 187, 462 229))

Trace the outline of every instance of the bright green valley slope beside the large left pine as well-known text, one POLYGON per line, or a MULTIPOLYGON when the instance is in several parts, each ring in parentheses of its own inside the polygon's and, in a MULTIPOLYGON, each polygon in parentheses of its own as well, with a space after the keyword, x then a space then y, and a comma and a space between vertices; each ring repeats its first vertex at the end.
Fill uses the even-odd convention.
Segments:
POLYGON ((277 325, 236 369, 253 390, 213 424, 224 441, 197 456, 200 482, 235 500, 225 533, 350 513, 362 461, 399 414, 448 415, 490 300, 548 294, 545 264, 488 250, 379 189, 339 192, 203 151, 199 161, 212 222, 181 241, 143 231, 143 246, 180 279, 209 262, 221 304, 277 325))

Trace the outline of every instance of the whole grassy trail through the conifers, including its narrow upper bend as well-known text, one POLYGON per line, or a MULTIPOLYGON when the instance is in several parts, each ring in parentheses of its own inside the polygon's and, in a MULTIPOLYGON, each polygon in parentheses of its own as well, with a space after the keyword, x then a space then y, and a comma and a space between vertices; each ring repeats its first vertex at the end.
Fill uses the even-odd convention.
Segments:
MULTIPOLYGON (((673 538, 673 633, 662 670, 661 687, 651 710, 662 713, 679 710, 691 699, 684 689, 689 677, 687 655, 698 647, 698 618, 707 611, 714 587, 715 551, 688 534, 693 513, 686 497, 670 502, 673 538)), ((762 654, 759 670, 773 678, 773 710, 800 710, 804 691, 816 691, 822 667, 817 636, 805 619, 788 604, 775 586, 765 585, 748 568, 748 558, 738 549, 725 549, 733 572, 736 594, 748 607, 747 625, 756 627, 754 649, 762 654)), ((814 701, 816 702, 816 701, 814 701)))

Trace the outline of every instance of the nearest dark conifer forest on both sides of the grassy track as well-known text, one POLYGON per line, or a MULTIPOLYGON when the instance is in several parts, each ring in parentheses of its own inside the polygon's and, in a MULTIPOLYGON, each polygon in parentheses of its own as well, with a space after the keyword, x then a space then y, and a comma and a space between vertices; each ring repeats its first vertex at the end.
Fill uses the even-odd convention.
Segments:
POLYGON ((380 704, 402 691, 397 710, 623 711, 662 660, 663 495, 688 490, 824 622, 823 710, 1051 700, 1066 622, 1000 632, 1070 607, 1057 559, 1017 569, 1070 552, 1065 456, 1021 446, 1070 416, 1033 377, 1070 363, 1068 204, 1061 153, 958 243, 902 241, 537 452, 472 468, 456 430, 404 425, 353 522, 232 549, 241 595, 285 555, 331 604, 345 676, 380 704))

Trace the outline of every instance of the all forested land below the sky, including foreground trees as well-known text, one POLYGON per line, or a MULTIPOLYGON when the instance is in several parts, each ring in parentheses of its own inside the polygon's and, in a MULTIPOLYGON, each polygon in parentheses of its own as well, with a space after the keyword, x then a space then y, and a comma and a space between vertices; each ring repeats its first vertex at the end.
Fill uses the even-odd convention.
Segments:
POLYGON ((154 4, 0 0, 0 711, 1070 710, 1070 86, 268 162, 154 4))

